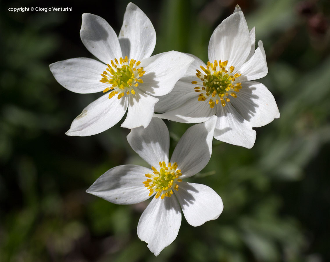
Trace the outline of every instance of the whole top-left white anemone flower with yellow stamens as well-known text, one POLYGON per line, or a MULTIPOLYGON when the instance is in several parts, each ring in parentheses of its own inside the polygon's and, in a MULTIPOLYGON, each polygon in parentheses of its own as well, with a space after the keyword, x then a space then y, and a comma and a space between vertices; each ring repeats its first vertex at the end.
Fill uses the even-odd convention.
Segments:
POLYGON ((158 98, 169 93, 193 58, 170 51, 151 56, 156 33, 149 18, 135 4, 127 5, 117 37, 107 21, 82 15, 82 43, 98 58, 79 57, 49 65, 58 83, 80 94, 104 94, 73 120, 67 135, 103 132, 128 113, 121 127, 147 127, 158 98))

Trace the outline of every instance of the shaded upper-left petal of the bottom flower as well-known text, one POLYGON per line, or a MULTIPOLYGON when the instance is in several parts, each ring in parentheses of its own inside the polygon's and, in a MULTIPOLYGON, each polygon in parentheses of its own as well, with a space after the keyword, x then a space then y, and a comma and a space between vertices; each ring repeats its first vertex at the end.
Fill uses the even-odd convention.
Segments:
POLYGON ((159 161, 168 163, 170 135, 161 119, 152 118, 147 128, 133 128, 127 135, 133 150, 150 166, 158 167, 159 161))

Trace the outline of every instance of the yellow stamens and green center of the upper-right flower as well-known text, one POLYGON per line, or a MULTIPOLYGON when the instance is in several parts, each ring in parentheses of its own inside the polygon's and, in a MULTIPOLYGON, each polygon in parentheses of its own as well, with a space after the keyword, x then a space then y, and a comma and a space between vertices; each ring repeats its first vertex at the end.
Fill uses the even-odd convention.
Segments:
MULTIPOLYGON (((226 102, 229 102, 229 95, 236 98, 237 92, 240 92, 242 88, 242 83, 234 83, 236 78, 241 76, 241 74, 228 74, 226 70, 228 60, 222 61, 219 60, 219 63, 214 60, 214 63, 207 62, 206 68, 204 66, 200 66, 200 68, 204 71, 204 75, 201 71, 196 69, 196 76, 201 81, 192 81, 191 83, 194 85, 199 85, 201 87, 195 87, 194 90, 197 93, 201 93, 198 95, 198 101, 206 101, 208 97, 210 97, 209 104, 211 108, 214 108, 215 104, 219 103, 219 99, 222 106, 226 105, 226 102)), ((235 67, 230 66, 229 73, 234 71, 235 67)))

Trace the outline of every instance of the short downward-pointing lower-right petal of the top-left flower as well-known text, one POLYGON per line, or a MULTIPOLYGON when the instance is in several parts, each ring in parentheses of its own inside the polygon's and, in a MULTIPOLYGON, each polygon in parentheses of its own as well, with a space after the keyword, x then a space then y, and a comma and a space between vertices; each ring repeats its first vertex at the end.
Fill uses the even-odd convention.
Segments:
POLYGON ((135 89, 135 95, 129 95, 128 112, 121 127, 129 129, 141 126, 148 127, 157 102, 158 98, 135 89))

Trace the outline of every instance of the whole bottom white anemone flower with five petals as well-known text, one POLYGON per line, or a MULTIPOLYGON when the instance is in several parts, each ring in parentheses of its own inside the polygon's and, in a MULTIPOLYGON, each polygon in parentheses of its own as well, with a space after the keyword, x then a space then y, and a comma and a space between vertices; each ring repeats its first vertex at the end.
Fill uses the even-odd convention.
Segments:
POLYGON ((132 129, 127 136, 131 147, 151 169, 136 165, 111 168, 86 192, 120 205, 140 203, 154 196, 140 217, 137 233, 157 256, 176 239, 181 209, 192 226, 217 219, 223 210, 222 200, 213 189, 182 181, 209 162, 214 127, 215 117, 190 127, 169 162, 168 129, 161 119, 153 118, 146 129, 132 129))

